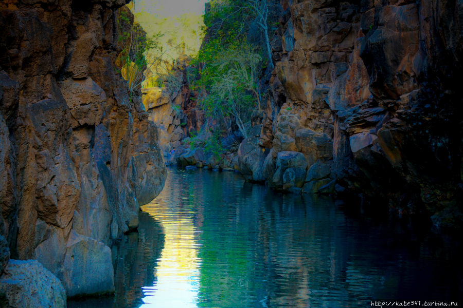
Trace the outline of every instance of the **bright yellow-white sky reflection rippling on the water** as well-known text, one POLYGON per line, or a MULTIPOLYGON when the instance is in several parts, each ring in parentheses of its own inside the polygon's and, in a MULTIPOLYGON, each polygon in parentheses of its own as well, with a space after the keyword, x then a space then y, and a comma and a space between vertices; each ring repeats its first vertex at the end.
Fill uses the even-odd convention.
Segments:
MULTIPOLYGON (((166 186, 169 185, 166 181, 166 186)), ((201 259, 194 212, 192 205, 182 202, 182 198, 172 203, 167 196, 169 191, 170 187, 165 187, 155 200, 141 207, 161 223, 165 242, 154 269, 157 280, 153 286, 143 287, 144 304, 140 308, 197 307, 201 259)))

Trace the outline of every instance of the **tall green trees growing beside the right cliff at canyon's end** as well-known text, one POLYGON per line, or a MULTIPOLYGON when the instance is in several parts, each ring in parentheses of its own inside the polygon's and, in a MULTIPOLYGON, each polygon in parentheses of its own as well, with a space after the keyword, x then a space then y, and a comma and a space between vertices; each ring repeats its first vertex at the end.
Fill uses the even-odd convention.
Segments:
MULTIPOLYGON (((187 74, 199 103, 209 118, 226 128, 234 121, 244 137, 251 114, 260 110, 259 76, 273 67, 269 28, 276 17, 269 15, 267 0, 211 0, 204 16, 205 41, 187 74), (270 16, 270 17, 269 17, 270 16), (272 19, 273 18, 273 19, 272 19)), ((276 10, 278 13, 278 10, 276 10)))

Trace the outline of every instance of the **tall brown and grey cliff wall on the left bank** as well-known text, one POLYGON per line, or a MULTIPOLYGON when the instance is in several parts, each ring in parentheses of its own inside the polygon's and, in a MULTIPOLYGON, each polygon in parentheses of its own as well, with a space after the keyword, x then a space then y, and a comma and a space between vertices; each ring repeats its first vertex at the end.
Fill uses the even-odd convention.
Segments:
POLYGON ((125 3, 0 4, 1 231, 68 295, 114 290, 108 246, 166 177, 157 128, 115 73, 125 3))

